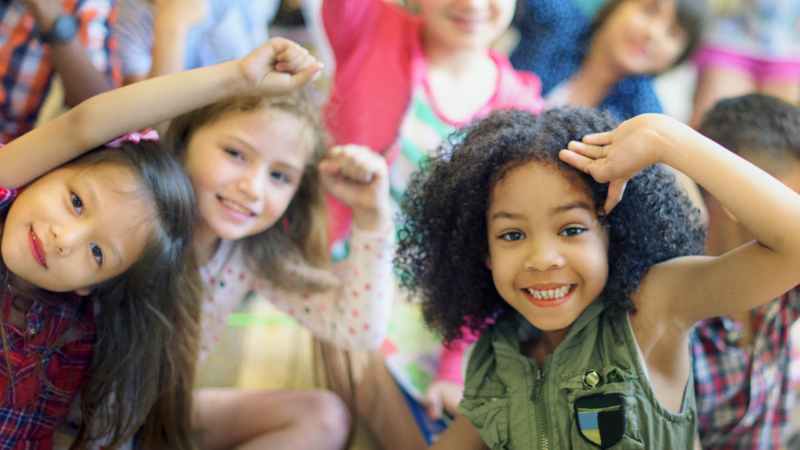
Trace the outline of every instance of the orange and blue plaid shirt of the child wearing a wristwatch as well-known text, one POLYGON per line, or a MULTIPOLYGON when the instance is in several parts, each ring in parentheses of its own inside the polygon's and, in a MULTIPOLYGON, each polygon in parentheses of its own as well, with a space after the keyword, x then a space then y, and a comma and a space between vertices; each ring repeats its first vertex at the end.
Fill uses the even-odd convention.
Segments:
MULTIPOLYGON (((114 0, 61 0, 78 20, 78 39, 97 70, 114 86, 122 81, 116 58, 114 0)), ((0 0, 0 142, 27 133, 50 89, 50 46, 39 41, 36 21, 21 0, 0 0)))

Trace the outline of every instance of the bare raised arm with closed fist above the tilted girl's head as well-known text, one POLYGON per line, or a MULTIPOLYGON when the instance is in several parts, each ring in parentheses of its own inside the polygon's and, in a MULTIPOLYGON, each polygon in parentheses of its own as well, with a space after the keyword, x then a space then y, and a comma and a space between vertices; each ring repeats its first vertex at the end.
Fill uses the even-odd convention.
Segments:
POLYGON ((0 150, 0 186, 19 188, 134 130, 237 95, 283 95, 322 65, 292 41, 270 39, 244 58, 116 89, 76 106, 0 150))

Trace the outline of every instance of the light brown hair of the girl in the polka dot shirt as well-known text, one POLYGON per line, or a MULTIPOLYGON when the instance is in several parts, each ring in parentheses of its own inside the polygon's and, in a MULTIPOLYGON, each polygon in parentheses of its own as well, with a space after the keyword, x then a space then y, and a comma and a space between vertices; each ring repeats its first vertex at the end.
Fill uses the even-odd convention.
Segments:
POLYGON ((270 110, 297 119, 309 137, 311 156, 283 217, 261 233, 241 239, 238 245, 244 248, 248 267, 260 278, 287 290, 319 290, 325 286, 290 268, 297 264, 323 268, 330 259, 325 193, 318 170, 327 150, 327 134, 308 88, 280 97, 238 97, 194 110, 172 120, 167 144, 179 161, 185 161, 189 142, 197 130, 231 114, 270 110))

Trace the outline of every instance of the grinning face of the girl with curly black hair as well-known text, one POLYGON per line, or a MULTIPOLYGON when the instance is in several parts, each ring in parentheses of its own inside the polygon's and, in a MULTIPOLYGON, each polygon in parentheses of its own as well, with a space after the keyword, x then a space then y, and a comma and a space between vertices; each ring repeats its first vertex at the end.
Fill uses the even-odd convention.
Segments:
POLYGON ((535 327, 568 328, 608 278, 608 232, 585 189, 531 162, 495 185, 487 211, 500 296, 535 327))

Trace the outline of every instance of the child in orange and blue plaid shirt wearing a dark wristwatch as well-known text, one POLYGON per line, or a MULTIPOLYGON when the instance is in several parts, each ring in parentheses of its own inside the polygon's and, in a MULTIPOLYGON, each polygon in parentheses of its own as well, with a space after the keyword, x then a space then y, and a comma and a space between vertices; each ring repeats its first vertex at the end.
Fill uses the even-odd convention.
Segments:
POLYGON ((75 106, 119 86, 112 0, 0 2, 0 143, 33 128, 53 76, 75 106))

